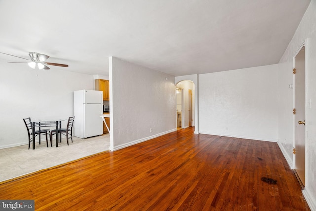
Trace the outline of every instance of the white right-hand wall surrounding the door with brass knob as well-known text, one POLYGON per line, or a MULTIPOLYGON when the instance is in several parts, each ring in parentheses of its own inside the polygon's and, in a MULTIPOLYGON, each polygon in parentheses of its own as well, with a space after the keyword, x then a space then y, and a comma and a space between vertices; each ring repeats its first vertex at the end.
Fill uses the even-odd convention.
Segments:
POLYGON ((283 154, 293 163, 293 56, 306 42, 306 131, 305 141, 305 190, 303 194, 311 210, 316 211, 316 0, 312 0, 279 62, 279 145, 283 154), (309 105, 309 101, 312 102, 309 105))

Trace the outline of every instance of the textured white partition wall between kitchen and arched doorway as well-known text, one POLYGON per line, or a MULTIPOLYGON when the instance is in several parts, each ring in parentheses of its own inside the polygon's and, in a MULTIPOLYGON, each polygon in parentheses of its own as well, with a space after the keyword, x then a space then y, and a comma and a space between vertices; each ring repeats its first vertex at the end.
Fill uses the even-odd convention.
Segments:
POLYGON ((174 76, 115 57, 109 64, 110 149, 175 131, 174 76))

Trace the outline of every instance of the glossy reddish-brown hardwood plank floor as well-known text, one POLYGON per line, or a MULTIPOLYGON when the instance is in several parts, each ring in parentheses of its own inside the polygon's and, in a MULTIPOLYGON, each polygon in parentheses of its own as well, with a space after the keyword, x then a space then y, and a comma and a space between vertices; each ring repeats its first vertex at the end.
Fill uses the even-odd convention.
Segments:
POLYGON ((276 143, 193 131, 1 184, 0 199, 49 211, 309 210, 276 143))

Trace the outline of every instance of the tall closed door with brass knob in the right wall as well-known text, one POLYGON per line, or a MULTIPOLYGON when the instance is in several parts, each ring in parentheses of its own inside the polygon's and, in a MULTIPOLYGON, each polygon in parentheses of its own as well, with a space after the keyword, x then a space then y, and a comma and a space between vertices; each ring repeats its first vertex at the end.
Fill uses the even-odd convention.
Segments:
POLYGON ((295 57, 295 170, 305 185, 305 47, 295 57))

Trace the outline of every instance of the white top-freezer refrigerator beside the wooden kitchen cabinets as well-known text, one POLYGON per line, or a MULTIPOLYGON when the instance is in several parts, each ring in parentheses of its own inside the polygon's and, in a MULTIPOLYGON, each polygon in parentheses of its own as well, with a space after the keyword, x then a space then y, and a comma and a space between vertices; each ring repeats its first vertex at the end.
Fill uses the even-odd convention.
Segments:
POLYGON ((88 138, 103 134, 103 92, 74 91, 74 136, 88 138))

